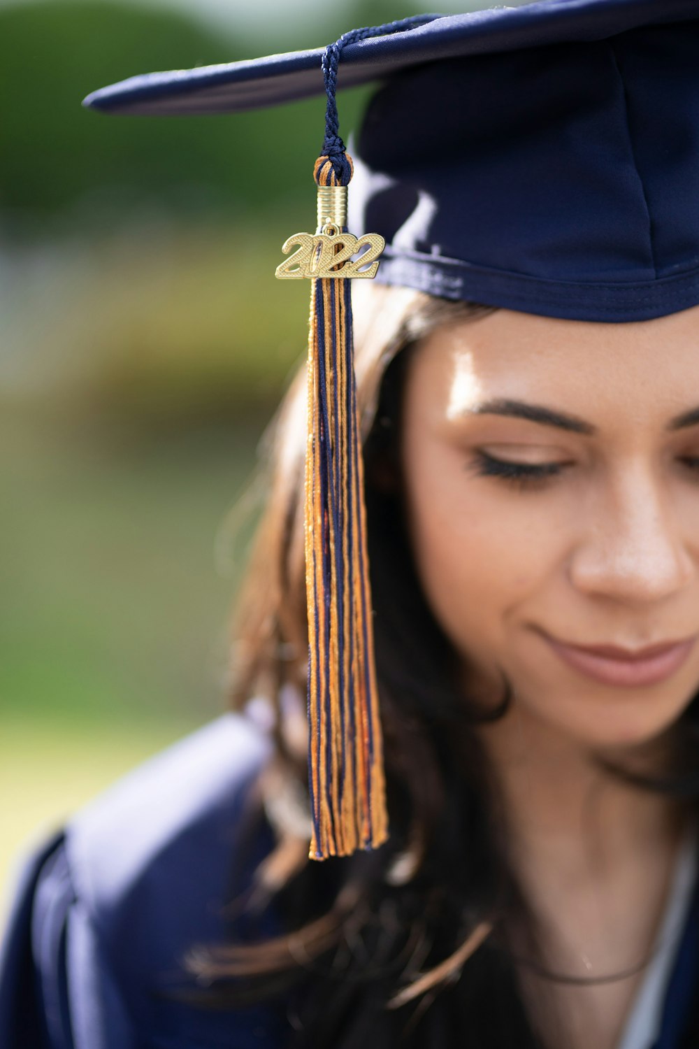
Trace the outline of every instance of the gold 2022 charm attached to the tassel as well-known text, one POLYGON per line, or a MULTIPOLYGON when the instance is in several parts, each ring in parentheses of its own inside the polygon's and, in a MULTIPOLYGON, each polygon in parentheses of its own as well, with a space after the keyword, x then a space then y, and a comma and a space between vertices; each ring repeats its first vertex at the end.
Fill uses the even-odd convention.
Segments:
POLYGON ((384 251, 386 241, 379 233, 355 237, 328 223, 322 233, 294 233, 288 237, 282 245, 284 254, 288 255, 294 244, 298 244, 297 251, 280 262, 275 271, 280 280, 297 277, 375 277, 378 269, 375 260, 384 251), (361 253, 358 258, 352 258, 357 253, 361 253))

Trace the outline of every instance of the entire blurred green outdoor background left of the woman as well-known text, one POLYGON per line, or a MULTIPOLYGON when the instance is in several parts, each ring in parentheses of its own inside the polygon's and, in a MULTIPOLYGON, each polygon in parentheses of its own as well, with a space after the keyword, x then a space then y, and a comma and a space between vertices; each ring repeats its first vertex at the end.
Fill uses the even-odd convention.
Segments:
MULTIPOLYGON (((32 839, 224 707, 256 449, 305 352, 306 288, 274 270, 314 214, 324 100, 184 119, 81 100, 421 9, 0 2, 4 883, 32 839)), ((341 97, 344 132, 366 97, 341 97)))

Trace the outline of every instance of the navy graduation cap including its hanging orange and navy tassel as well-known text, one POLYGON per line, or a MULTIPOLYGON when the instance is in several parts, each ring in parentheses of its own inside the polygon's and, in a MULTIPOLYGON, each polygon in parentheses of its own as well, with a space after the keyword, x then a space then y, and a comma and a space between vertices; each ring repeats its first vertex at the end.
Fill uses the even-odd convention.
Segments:
POLYGON ((133 77, 105 112, 224 113, 325 91, 306 449, 310 856, 386 840, 349 280, 583 321, 699 303, 699 0, 424 15, 327 48, 133 77), (335 91, 379 81, 354 164, 335 91), (352 179, 347 217, 347 186, 352 179))

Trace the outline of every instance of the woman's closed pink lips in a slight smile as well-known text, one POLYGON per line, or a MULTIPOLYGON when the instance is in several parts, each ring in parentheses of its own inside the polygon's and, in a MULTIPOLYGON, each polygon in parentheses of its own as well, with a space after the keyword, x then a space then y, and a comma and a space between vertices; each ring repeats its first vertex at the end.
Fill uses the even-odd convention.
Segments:
POLYGON ((655 685, 664 681, 680 668, 696 642, 695 636, 685 641, 653 645, 632 654, 613 645, 584 648, 565 644, 548 634, 544 638, 568 666, 605 685, 621 687, 655 685))

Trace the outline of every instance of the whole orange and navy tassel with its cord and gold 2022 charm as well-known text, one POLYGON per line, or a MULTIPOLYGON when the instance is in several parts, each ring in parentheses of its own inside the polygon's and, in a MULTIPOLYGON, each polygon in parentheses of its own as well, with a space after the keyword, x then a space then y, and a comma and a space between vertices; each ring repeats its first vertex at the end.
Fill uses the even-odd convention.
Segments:
POLYGON ((311 859, 376 849, 388 838, 349 286, 350 279, 375 276, 384 238, 347 232, 352 160, 338 132, 337 66, 348 44, 432 18, 353 29, 326 48, 325 141, 313 169, 318 228, 289 237, 282 251, 297 251, 277 266, 277 277, 311 279, 305 472, 311 859))

